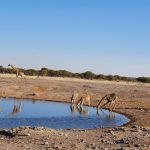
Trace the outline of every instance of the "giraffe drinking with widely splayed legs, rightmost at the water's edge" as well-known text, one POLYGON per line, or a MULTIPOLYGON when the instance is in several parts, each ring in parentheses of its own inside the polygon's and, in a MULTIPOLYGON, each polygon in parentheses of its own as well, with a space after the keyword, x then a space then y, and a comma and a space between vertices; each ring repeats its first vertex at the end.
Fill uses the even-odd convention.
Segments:
POLYGON ((104 97, 102 97, 102 99, 99 101, 98 105, 97 105, 97 109, 102 108, 104 106, 106 106, 107 104, 109 104, 109 110, 112 111, 115 109, 116 103, 118 101, 118 97, 115 93, 111 93, 111 94, 106 94, 104 97), (101 105, 101 103, 105 101, 104 104, 101 105))

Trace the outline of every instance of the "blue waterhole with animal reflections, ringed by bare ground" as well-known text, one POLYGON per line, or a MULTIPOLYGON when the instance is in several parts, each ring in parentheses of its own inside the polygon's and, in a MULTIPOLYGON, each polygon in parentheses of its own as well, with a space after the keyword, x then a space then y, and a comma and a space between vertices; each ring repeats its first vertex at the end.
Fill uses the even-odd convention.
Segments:
POLYGON ((93 129, 121 126, 129 122, 125 116, 92 107, 76 107, 66 103, 1 99, 0 128, 43 126, 53 129, 93 129))

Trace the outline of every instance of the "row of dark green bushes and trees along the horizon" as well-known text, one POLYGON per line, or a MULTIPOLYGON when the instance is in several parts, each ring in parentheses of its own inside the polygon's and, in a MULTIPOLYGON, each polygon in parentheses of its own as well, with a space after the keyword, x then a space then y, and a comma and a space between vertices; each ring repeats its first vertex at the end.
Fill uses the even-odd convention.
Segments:
MULTIPOLYGON (((97 80, 109 80, 109 81, 133 81, 133 82, 144 82, 150 83, 150 77, 124 77, 119 75, 103 75, 103 74, 94 74, 91 71, 86 71, 84 73, 72 73, 66 70, 51 70, 48 68, 41 68, 40 70, 35 69, 22 69, 19 68, 21 72, 28 76, 48 76, 48 77, 72 77, 72 78, 81 78, 81 79, 97 79, 97 80)), ((4 68, 0 66, 0 73, 15 73, 12 68, 4 68)))

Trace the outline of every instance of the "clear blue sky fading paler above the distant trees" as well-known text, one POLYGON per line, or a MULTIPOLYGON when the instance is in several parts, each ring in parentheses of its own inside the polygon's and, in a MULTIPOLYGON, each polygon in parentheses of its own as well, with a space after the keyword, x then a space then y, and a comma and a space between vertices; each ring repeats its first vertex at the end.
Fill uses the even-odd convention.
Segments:
POLYGON ((0 1, 0 52, 3 66, 150 76, 150 1, 0 1))

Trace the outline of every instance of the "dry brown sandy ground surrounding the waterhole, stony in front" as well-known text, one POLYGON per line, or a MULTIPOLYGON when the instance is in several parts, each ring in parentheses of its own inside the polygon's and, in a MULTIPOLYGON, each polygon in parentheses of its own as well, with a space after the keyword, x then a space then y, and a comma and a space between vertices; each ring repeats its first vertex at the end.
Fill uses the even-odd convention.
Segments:
POLYGON ((111 82, 71 78, 27 77, 0 75, 0 95, 70 102, 73 91, 85 90, 92 96, 91 105, 105 94, 116 93, 116 112, 131 121, 123 127, 94 130, 51 130, 18 127, 0 130, 0 149, 150 149, 150 84, 111 82))

